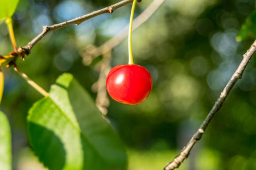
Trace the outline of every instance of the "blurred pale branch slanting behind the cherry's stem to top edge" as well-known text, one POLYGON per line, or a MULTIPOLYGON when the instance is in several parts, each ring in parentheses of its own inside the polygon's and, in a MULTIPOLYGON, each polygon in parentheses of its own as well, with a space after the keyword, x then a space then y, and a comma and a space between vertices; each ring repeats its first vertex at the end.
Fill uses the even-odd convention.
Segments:
MULTIPOLYGON (((141 26, 150 16, 154 14, 154 12, 162 5, 165 0, 154 0, 137 18, 134 19, 133 22, 133 31, 141 26)), ((117 33, 112 39, 106 41, 99 47, 90 46, 82 50, 81 56, 83 58, 83 63, 88 65, 90 61, 94 58, 100 56, 101 54, 108 53, 112 50, 115 46, 120 44, 128 35, 129 24, 126 25, 121 31, 117 33), (90 56, 90 58, 88 58, 90 56)))

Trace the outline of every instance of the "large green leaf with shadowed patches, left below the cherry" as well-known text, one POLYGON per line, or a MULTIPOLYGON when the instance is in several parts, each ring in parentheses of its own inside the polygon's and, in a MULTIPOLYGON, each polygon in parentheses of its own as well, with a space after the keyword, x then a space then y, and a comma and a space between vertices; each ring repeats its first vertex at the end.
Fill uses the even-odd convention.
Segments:
POLYGON ((30 109, 28 137, 49 169, 126 169, 117 133, 71 74, 61 75, 30 109))

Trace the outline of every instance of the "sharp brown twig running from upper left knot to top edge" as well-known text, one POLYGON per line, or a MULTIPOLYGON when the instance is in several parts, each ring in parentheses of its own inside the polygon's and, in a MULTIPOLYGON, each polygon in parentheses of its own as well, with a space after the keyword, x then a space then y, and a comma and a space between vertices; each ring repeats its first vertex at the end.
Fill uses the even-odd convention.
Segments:
MULTIPOLYGON (((55 31, 55 30, 60 29, 60 28, 67 27, 67 26, 72 25, 72 24, 79 25, 82 22, 84 22, 85 20, 88 20, 90 18, 93 18, 93 17, 101 15, 101 14, 105 14, 105 13, 112 14, 112 12, 114 12, 118 8, 120 8, 122 6, 125 6, 125 5, 127 5, 131 2, 133 2, 133 0, 123 0, 121 2, 115 3, 114 5, 111 5, 109 7, 105 7, 105 8, 102 8, 101 10, 91 12, 90 14, 79 16, 75 19, 71 19, 71 20, 68 20, 68 21, 65 21, 65 22, 62 22, 62 23, 59 23, 59 24, 54 24, 54 25, 51 25, 51 26, 44 26, 43 27, 43 32, 41 32, 38 36, 36 36, 35 39, 28 42, 28 44, 26 46, 24 46, 24 49, 27 49, 28 52, 30 52, 31 49, 35 46, 35 44, 38 41, 43 39, 44 36, 46 36, 48 33, 52 32, 52 31, 55 31)), ((138 2, 140 2, 140 1, 138 1, 138 2)), ((19 51, 22 51, 22 49, 20 49, 19 51)))

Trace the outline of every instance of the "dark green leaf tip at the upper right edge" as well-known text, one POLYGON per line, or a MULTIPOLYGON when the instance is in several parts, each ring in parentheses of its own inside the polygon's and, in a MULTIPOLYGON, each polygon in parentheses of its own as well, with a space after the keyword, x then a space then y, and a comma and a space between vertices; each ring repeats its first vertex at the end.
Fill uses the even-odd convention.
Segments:
POLYGON ((237 41, 245 40, 247 38, 256 39, 256 11, 253 11, 242 24, 241 29, 237 35, 237 41))

